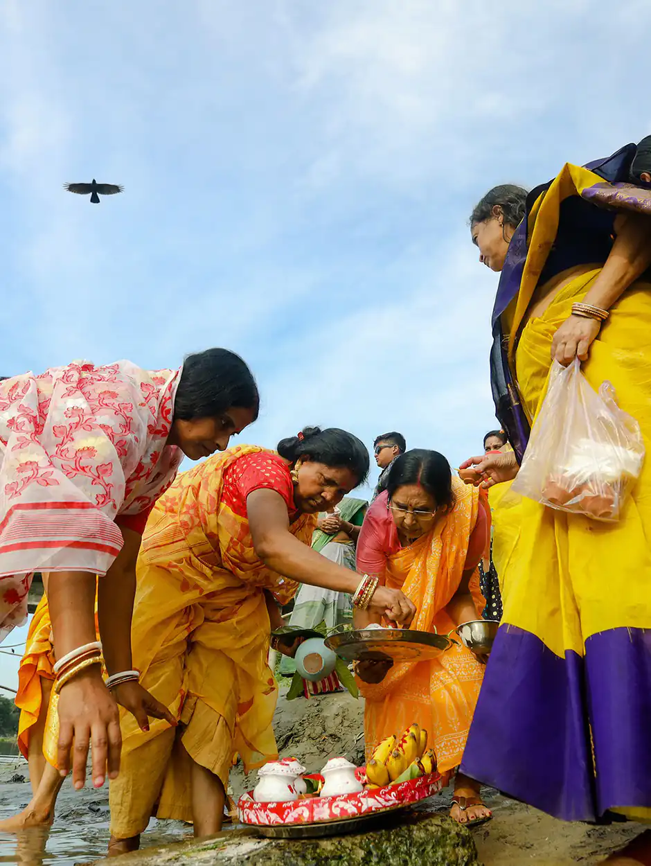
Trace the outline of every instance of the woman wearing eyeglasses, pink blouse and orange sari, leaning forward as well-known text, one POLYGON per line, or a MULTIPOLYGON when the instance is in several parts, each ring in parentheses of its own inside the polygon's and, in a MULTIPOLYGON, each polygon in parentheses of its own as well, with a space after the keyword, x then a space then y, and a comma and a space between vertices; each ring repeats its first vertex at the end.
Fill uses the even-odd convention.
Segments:
MULTIPOLYGON (((391 467, 387 489, 373 502, 359 534, 358 572, 401 589, 416 605, 412 628, 448 634, 481 615, 484 599, 477 566, 486 549, 490 520, 485 497, 452 476, 436 451, 414 449, 391 467)), ((355 611, 356 628, 380 623, 355 611)), ((458 644, 426 662, 358 662, 366 699, 364 736, 370 756, 390 734, 417 722, 429 732, 439 772, 452 776, 461 764, 473 719, 483 665, 458 644)), ((460 824, 491 818, 480 785, 461 773, 454 781, 450 815, 460 824)))

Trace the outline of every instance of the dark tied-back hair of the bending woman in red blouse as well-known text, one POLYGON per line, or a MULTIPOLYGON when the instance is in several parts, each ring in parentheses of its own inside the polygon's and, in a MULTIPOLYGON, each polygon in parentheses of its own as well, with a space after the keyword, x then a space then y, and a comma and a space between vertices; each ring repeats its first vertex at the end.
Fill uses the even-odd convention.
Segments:
POLYGON ((278 443, 278 453, 291 463, 306 456, 332 469, 350 469, 363 484, 369 474, 371 461, 364 443, 338 427, 304 427, 299 436, 290 436, 278 443))

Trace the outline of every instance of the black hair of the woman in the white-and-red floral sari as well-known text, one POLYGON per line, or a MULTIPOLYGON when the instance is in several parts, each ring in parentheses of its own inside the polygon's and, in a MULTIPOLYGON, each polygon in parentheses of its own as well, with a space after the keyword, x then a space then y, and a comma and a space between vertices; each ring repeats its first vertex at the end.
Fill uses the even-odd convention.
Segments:
POLYGON ((254 421, 258 417, 258 386, 240 356, 228 349, 188 355, 174 400, 174 420, 214 418, 230 406, 253 409, 254 421))

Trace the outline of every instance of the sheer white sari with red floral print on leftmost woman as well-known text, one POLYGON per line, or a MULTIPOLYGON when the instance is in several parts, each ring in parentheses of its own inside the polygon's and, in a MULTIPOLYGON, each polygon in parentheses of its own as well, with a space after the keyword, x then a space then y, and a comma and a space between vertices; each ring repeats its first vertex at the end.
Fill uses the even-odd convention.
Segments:
POLYGON ((86 361, 0 382, 0 640, 34 572, 106 571, 119 514, 140 514, 183 459, 166 446, 180 371, 86 361))

